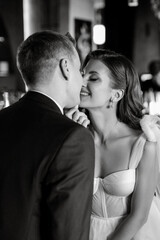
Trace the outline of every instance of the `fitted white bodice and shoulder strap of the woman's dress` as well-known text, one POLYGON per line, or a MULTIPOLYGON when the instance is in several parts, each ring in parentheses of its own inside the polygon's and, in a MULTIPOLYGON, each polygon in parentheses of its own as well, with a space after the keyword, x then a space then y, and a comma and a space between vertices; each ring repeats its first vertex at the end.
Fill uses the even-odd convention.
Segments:
POLYGON ((128 204, 135 186, 135 170, 144 144, 145 138, 141 135, 132 148, 128 169, 111 173, 104 178, 94 178, 93 215, 108 218, 128 214, 128 204))

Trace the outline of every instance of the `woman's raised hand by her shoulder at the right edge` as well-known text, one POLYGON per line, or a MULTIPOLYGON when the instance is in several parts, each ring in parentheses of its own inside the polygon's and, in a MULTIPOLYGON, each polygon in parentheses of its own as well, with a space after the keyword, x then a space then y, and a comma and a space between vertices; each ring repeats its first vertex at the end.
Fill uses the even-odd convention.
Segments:
POLYGON ((140 125, 147 140, 157 142, 156 132, 160 129, 160 118, 157 115, 144 115, 140 125))

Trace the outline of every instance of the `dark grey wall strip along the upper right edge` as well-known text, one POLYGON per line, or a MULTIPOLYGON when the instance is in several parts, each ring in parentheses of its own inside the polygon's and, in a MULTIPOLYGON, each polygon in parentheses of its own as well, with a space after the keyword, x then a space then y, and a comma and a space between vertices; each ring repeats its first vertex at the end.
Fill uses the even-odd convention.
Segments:
POLYGON ((148 72, 152 60, 160 59, 160 20, 152 11, 150 0, 140 0, 136 10, 133 61, 137 71, 148 72))

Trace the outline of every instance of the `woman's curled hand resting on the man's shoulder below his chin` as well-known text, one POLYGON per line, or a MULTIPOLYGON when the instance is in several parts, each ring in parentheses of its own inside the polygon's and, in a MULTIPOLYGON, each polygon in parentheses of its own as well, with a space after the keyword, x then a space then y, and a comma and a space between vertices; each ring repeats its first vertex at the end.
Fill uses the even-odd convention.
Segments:
POLYGON ((65 115, 84 127, 87 127, 90 124, 87 115, 84 112, 80 112, 77 107, 65 110, 65 115))

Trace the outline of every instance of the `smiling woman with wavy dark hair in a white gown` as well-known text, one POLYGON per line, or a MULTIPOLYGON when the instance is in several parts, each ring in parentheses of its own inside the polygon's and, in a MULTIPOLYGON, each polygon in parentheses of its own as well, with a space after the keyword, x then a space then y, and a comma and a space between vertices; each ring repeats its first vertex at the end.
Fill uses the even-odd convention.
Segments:
POLYGON ((95 50, 83 70, 80 108, 88 118, 76 108, 66 115, 88 125, 95 142, 90 240, 157 240, 159 118, 142 118, 138 75, 123 55, 95 50))

